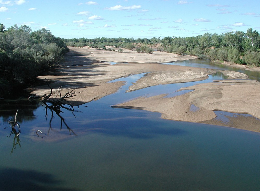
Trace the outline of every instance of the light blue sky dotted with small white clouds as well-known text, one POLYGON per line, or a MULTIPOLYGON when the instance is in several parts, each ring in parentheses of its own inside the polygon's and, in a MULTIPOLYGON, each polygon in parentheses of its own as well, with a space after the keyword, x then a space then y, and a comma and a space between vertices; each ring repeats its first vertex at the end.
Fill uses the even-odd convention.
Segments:
POLYGON ((198 36, 260 29, 259 0, 0 0, 0 23, 61 38, 198 36))

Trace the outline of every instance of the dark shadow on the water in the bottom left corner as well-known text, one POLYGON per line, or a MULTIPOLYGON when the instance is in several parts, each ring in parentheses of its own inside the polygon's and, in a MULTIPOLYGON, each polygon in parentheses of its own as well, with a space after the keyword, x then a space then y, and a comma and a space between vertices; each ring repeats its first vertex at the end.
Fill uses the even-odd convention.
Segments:
POLYGON ((21 170, 15 168, 0 169, 1 191, 80 191, 64 188, 61 180, 53 175, 35 170, 21 170))

